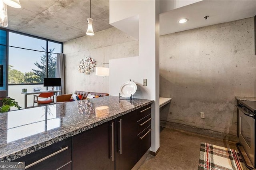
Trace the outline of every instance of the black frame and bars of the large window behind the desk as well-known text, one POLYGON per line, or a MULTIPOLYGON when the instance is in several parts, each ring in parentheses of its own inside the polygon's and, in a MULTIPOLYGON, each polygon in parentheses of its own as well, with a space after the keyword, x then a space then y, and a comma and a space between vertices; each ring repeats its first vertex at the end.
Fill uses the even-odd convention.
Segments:
MULTIPOLYGON (((0 27, 0 30, 5 30, 6 31, 6 90, 8 91, 8 86, 9 85, 42 85, 43 83, 19 83, 19 84, 9 84, 8 83, 9 82, 9 74, 8 74, 8 72, 9 72, 9 70, 8 70, 9 47, 14 47, 14 48, 19 48, 19 49, 26 49, 26 50, 31 50, 31 51, 38 51, 38 52, 45 52, 46 53, 46 61, 47 61, 46 62, 46 77, 48 77, 48 56, 49 56, 49 53, 53 53, 53 52, 49 52, 48 42, 59 43, 61 45, 61 47, 60 47, 61 53, 63 53, 63 42, 58 42, 58 41, 50 40, 50 39, 47 39, 47 38, 33 36, 33 35, 30 35, 30 34, 18 32, 18 31, 14 31, 14 30, 9 30, 9 29, 2 28, 2 27, 0 27), (27 48, 22 48, 22 47, 9 46, 9 32, 46 41, 46 51, 39 51, 39 50, 35 50, 35 49, 27 49, 27 48)), ((53 53, 53 54, 57 54, 57 53, 53 53)))

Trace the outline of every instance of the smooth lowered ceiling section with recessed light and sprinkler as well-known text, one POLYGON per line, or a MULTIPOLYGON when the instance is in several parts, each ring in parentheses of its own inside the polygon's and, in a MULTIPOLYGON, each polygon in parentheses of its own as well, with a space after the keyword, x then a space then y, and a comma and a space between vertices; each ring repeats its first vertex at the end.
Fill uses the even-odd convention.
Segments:
POLYGON ((250 18, 255 15, 256 0, 202 0, 160 14, 160 35, 250 18), (209 18, 205 20, 204 16, 209 18), (182 18, 188 18, 188 22, 178 23, 182 18))

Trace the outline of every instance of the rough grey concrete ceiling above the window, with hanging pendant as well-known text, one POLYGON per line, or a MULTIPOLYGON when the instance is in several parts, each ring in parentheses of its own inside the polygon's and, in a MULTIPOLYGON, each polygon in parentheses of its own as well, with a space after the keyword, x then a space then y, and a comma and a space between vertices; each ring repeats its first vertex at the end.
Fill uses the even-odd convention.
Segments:
MULTIPOLYGON (((22 8, 7 7, 8 29, 66 42, 86 35, 90 0, 20 0, 22 8)), ((109 24, 109 0, 91 0, 93 30, 109 24)))

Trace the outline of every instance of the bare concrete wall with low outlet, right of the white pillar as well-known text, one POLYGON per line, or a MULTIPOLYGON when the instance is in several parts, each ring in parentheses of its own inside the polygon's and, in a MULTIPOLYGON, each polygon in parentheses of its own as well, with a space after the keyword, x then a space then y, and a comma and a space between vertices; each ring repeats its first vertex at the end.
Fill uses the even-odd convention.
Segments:
POLYGON ((236 135, 234 97, 256 97, 254 18, 161 36, 160 96, 161 125, 236 135))

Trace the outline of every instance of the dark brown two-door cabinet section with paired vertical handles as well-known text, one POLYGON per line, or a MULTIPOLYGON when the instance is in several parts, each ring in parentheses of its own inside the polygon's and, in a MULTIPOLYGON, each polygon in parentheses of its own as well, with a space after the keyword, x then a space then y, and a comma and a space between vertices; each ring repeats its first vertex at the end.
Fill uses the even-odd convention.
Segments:
POLYGON ((137 111, 73 136, 74 170, 130 170, 137 155, 137 111))

